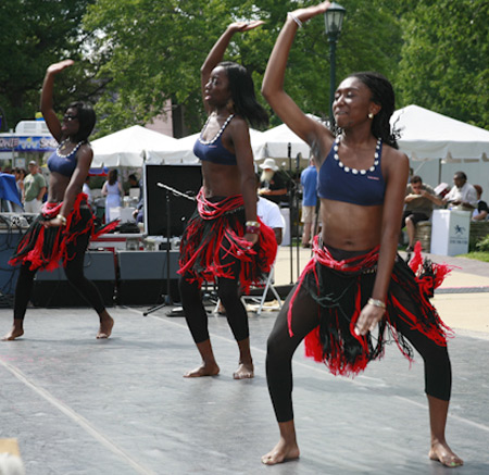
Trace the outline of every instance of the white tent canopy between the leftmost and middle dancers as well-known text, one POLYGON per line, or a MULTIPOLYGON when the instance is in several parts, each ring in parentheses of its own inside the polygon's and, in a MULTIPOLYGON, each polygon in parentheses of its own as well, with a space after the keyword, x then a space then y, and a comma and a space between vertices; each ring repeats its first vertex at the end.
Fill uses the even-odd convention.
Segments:
POLYGON ((142 166, 145 151, 165 150, 174 147, 177 140, 149 128, 134 125, 91 142, 93 167, 101 166, 142 166))

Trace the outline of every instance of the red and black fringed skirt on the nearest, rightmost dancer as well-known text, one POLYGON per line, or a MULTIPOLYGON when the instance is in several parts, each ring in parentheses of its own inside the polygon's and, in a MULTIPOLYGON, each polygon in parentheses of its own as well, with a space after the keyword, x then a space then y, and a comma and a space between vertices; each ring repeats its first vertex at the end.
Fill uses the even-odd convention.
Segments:
MULTIPOLYGON (((421 245, 415 257, 406 264, 399 255, 386 301, 385 317, 378 323, 376 341, 372 333, 355 334, 360 312, 366 304, 375 284, 378 248, 362 255, 336 260, 331 252, 314 239, 314 257, 304 268, 288 311, 289 334, 292 336, 291 315, 296 297, 303 288, 318 303, 318 326, 304 340, 305 355, 324 362, 337 375, 355 375, 367 363, 384 354, 386 338, 394 340, 410 361, 413 349, 398 330, 397 322, 403 321, 411 329, 421 332, 437 345, 446 346, 451 329, 444 325, 429 299, 448 272, 421 257, 421 245), (386 336, 386 334, 388 334, 386 336)), ((335 253, 335 250, 331 250, 335 253)), ((297 302, 299 304, 299 301, 297 302)))

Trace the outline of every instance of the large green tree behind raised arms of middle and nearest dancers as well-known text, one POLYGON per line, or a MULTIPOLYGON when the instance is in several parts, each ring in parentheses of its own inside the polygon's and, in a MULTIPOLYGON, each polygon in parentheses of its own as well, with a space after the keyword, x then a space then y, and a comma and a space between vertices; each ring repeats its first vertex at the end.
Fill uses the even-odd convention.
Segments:
MULTIPOLYGON (((97 33, 96 51, 110 58, 98 76, 108 83, 97 104, 100 134, 147 123, 164 112, 168 99, 174 105, 185 105, 187 125, 197 130, 203 121, 200 65, 235 20, 266 22, 261 28, 236 35, 226 58, 250 71, 262 100, 260 87, 275 39, 287 12, 302 3, 314 2, 97 0, 85 16, 85 26, 97 33)), ((337 50, 337 77, 359 70, 390 76, 401 48, 392 14, 372 10, 360 0, 346 1, 344 7, 348 13, 337 50), (373 24, 375 37, 371 34, 373 24)), ((298 32, 286 88, 304 111, 327 113, 329 50, 323 18, 314 18, 298 32)))

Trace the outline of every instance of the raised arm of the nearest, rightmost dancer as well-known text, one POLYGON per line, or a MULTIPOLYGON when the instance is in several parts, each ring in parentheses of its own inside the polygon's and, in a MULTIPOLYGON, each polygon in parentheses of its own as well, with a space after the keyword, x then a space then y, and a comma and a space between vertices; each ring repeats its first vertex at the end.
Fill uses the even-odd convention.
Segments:
POLYGON ((290 48, 299 24, 324 13, 330 3, 328 1, 315 7, 296 10, 287 14, 287 20, 278 35, 266 66, 262 84, 262 93, 275 113, 310 146, 314 146, 317 136, 325 127, 308 117, 284 90, 284 78, 290 48))

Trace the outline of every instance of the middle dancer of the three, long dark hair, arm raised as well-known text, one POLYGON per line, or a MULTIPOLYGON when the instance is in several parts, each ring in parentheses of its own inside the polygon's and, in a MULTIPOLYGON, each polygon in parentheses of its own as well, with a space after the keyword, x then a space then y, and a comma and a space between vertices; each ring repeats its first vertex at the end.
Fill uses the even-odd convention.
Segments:
POLYGON ((235 33, 261 24, 230 24, 201 67, 202 96, 209 118, 193 152, 202 161, 203 185, 198 196, 198 211, 181 238, 179 291, 202 363, 185 377, 214 376, 220 372, 200 292, 203 280, 215 279, 239 348, 239 365, 234 377, 242 379, 254 375, 248 315, 239 299, 239 285, 247 289, 261 280, 275 260, 277 243, 273 230, 256 217, 253 154, 247 122, 265 125, 268 116, 255 99, 247 70, 221 61, 235 33))

